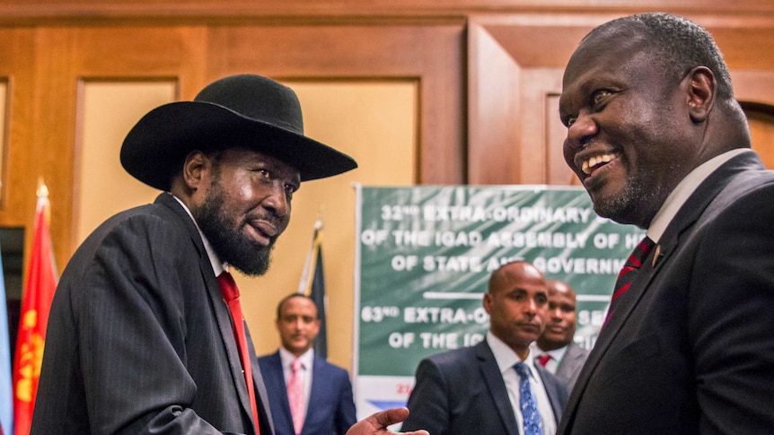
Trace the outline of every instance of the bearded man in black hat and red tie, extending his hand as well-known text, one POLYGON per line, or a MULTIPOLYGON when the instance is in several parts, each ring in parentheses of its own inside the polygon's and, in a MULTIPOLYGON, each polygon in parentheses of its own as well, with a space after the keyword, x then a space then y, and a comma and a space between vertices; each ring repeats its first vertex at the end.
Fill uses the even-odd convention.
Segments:
MULTIPOLYGON (((104 222, 66 266, 31 432, 273 434, 227 271, 264 274, 301 182, 356 162, 303 135, 293 91, 251 74, 152 110, 120 158, 164 193, 104 222)), ((388 433, 407 413, 348 433, 388 433)))

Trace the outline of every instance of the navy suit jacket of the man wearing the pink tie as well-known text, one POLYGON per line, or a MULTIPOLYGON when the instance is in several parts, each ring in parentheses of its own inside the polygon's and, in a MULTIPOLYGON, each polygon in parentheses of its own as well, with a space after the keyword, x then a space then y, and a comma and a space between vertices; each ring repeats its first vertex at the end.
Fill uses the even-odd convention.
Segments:
MULTIPOLYGON (((269 391, 268 404, 277 435, 295 435, 279 352, 262 356, 258 362, 269 391)), ((312 362, 312 392, 301 435, 344 435, 356 421, 352 384, 347 370, 315 356, 312 362)))

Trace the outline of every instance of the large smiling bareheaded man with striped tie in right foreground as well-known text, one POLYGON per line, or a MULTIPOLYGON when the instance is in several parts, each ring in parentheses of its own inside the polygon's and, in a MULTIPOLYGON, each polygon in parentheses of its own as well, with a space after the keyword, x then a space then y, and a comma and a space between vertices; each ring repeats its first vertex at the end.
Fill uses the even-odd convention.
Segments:
POLYGON ((603 24, 570 58, 559 108, 594 210, 654 242, 617 286, 559 433, 771 433, 774 172, 715 41, 665 13, 603 24))

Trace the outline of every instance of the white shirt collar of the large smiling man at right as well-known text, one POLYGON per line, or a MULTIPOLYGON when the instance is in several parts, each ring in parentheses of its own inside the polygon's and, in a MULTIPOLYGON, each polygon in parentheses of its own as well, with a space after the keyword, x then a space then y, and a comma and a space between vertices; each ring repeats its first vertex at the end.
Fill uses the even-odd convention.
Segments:
POLYGON ((653 218, 653 221, 650 222, 650 227, 647 229, 647 237, 657 243, 658 239, 661 239, 661 236, 664 235, 666 227, 672 222, 675 214, 680 211, 682 204, 685 204, 690 194, 696 190, 696 187, 699 187, 701 182, 707 179, 709 175, 717 170, 723 163, 726 163, 726 161, 731 160, 743 152, 752 152, 752 150, 749 148, 738 148, 727 151, 705 161, 696 169, 691 170, 685 178, 682 178, 682 181, 677 187, 674 187, 672 193, 666 197, 666 201, 661 205, 658 213, 655 213, 655 217, 653 218))

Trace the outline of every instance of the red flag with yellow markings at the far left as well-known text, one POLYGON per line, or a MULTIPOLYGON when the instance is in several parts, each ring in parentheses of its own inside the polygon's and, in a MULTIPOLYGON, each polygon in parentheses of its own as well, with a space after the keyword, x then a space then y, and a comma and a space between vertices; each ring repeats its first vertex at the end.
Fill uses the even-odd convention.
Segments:
POLYGON ((54 250, 51 247, 51 233, 48 230, 49 215, 48 188, 41 185, 35 211, 30 269, 22 298, 16 354, 13 359, 13 420, 16 435, 30 433, 40 364, 43 361, 43 345, 46 341, 48 312, 57 289, 58 274, 54 263, 54 250))

